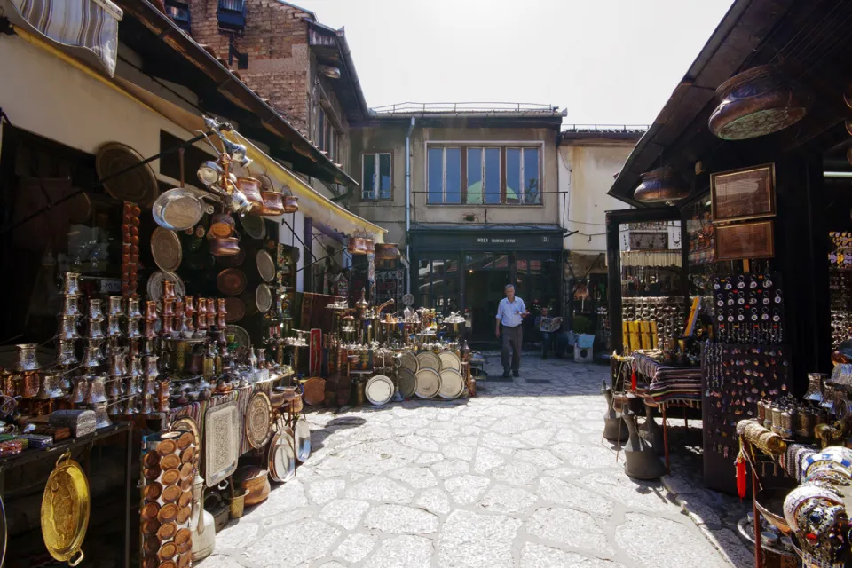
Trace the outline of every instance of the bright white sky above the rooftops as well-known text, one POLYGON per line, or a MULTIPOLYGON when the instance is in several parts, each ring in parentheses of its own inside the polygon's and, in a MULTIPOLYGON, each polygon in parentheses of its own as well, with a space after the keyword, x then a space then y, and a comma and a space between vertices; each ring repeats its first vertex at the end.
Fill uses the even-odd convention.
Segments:
POLYGON ((732 0, 290 0, 345 26, 368 106, 507 101, 646 124, 732 0))

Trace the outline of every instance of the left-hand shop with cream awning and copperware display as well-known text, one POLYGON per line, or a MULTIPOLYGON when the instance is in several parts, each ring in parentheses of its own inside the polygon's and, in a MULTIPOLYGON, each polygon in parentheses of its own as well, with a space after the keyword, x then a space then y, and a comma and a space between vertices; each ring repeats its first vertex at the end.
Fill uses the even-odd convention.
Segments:
POLYGON ((191 565, 297 475, 308 403, 468 396, 460 321, 296 295, 308 218, 368 268, 399 257, 381 228, 231 124, 14 32, 0 40, 15 79, 0 85, 0 564, 191 565), (51 81, 69 87, 37 87, 51 81))

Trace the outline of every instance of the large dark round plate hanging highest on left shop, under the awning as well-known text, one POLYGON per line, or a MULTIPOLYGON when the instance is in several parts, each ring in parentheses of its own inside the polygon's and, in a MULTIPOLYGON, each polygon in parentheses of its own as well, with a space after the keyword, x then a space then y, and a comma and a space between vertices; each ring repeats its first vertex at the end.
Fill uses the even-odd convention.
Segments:
POLYGON ((109 142, 100 146, 95 154, 95 170, 100 179, 106 179, 104 189, 119 201, 130 201, 141 207, 150 207, 159 193, 157 177, 150 164, 138 166, 144 158, 130 146, 109 142), (137 166, 122 175, 115 174, 137 166))

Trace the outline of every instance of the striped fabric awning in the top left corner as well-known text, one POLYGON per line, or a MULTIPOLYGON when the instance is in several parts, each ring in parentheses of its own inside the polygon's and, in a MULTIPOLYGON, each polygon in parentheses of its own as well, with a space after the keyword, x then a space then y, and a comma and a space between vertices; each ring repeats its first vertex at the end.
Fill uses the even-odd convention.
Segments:
POLYGON ((12 24, 115 74, 123 12, 110 0, 0 0, 0 7, 12 24))

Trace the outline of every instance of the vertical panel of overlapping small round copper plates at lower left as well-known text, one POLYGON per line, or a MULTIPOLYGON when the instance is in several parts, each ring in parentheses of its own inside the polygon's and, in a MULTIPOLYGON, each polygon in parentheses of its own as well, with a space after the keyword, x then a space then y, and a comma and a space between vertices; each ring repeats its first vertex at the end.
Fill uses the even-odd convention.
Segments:
POLYGON ((143 568, 186 568, 192 564, 196 440, 177 430, 145 438, 142 454, 143 568))

